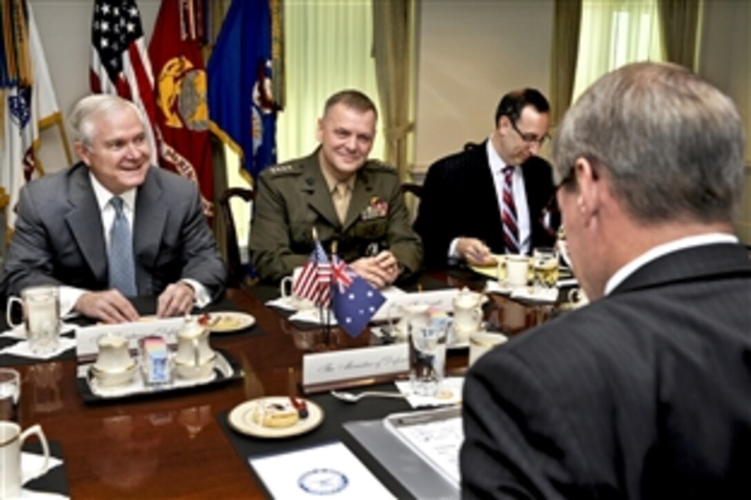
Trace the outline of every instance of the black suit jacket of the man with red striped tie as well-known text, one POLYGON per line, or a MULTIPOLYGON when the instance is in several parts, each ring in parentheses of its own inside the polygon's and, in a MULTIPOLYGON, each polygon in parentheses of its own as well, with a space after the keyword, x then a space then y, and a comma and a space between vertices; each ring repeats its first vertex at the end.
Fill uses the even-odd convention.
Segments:
MULTIPOLYGON (((448 247, 458 236, 481 239, 496 254, 505 252, 498 194, 487 159, 487 141, 430 166, 423 184, 415 230, 423 239, 425 264, 446 267, 448 247)), ((531 224, 531 247, 550 245, 541 222, 553 196, 550 164, 532 156, 521 165, 531 224)))

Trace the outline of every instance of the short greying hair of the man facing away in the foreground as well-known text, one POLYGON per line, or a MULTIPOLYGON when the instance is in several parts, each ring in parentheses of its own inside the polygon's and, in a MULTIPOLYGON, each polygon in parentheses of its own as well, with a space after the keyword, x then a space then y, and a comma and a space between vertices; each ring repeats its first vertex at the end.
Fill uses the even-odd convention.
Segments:
POLYGON ((575 184, 575 161, 587 158, 637 220, 731 221, 740 209, 740 116, 730 98, 682 66, 642 62, 606 74, 556 136, 556 174, 566 188, 575 184))

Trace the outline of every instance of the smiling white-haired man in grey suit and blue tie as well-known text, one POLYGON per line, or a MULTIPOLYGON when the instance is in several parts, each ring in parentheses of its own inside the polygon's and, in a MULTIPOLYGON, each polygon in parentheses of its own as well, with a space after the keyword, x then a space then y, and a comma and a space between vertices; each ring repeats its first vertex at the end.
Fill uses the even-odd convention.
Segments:
POLYGON ((89 95, 71 125, 81 161, 22 188, 3 290, 58 285, 63 313, 109 323, 137 321, 128 297, 158 295, 160 317, 218 297, 225 267, 198 188, 149 164, 137 107, 89 95))

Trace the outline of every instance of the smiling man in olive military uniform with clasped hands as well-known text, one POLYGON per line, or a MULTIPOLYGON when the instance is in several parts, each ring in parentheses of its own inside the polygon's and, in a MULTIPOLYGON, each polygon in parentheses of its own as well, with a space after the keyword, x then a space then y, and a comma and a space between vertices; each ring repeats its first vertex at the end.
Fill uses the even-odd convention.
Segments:
POLYGON ((305 264, 314 227, 327 251, 336 241, 339 257, 375 287, 418 271, 422 245, 397 172, 367 159, 377 118, 362 92, 337 92, 318 120, 321 146, 261 173, 249 243, 261 279, 279 281, 305 264))

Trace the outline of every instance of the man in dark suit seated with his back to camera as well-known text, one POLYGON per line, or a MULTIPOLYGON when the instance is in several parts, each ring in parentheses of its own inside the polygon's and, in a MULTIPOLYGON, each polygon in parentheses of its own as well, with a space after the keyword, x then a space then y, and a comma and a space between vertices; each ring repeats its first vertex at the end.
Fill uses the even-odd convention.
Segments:
POLYGON ((743 129, 677 65, 597 81, 556 134, 589 306, 466 378, 465 498, 751 498, 751 263, 733 235, 743 129))

